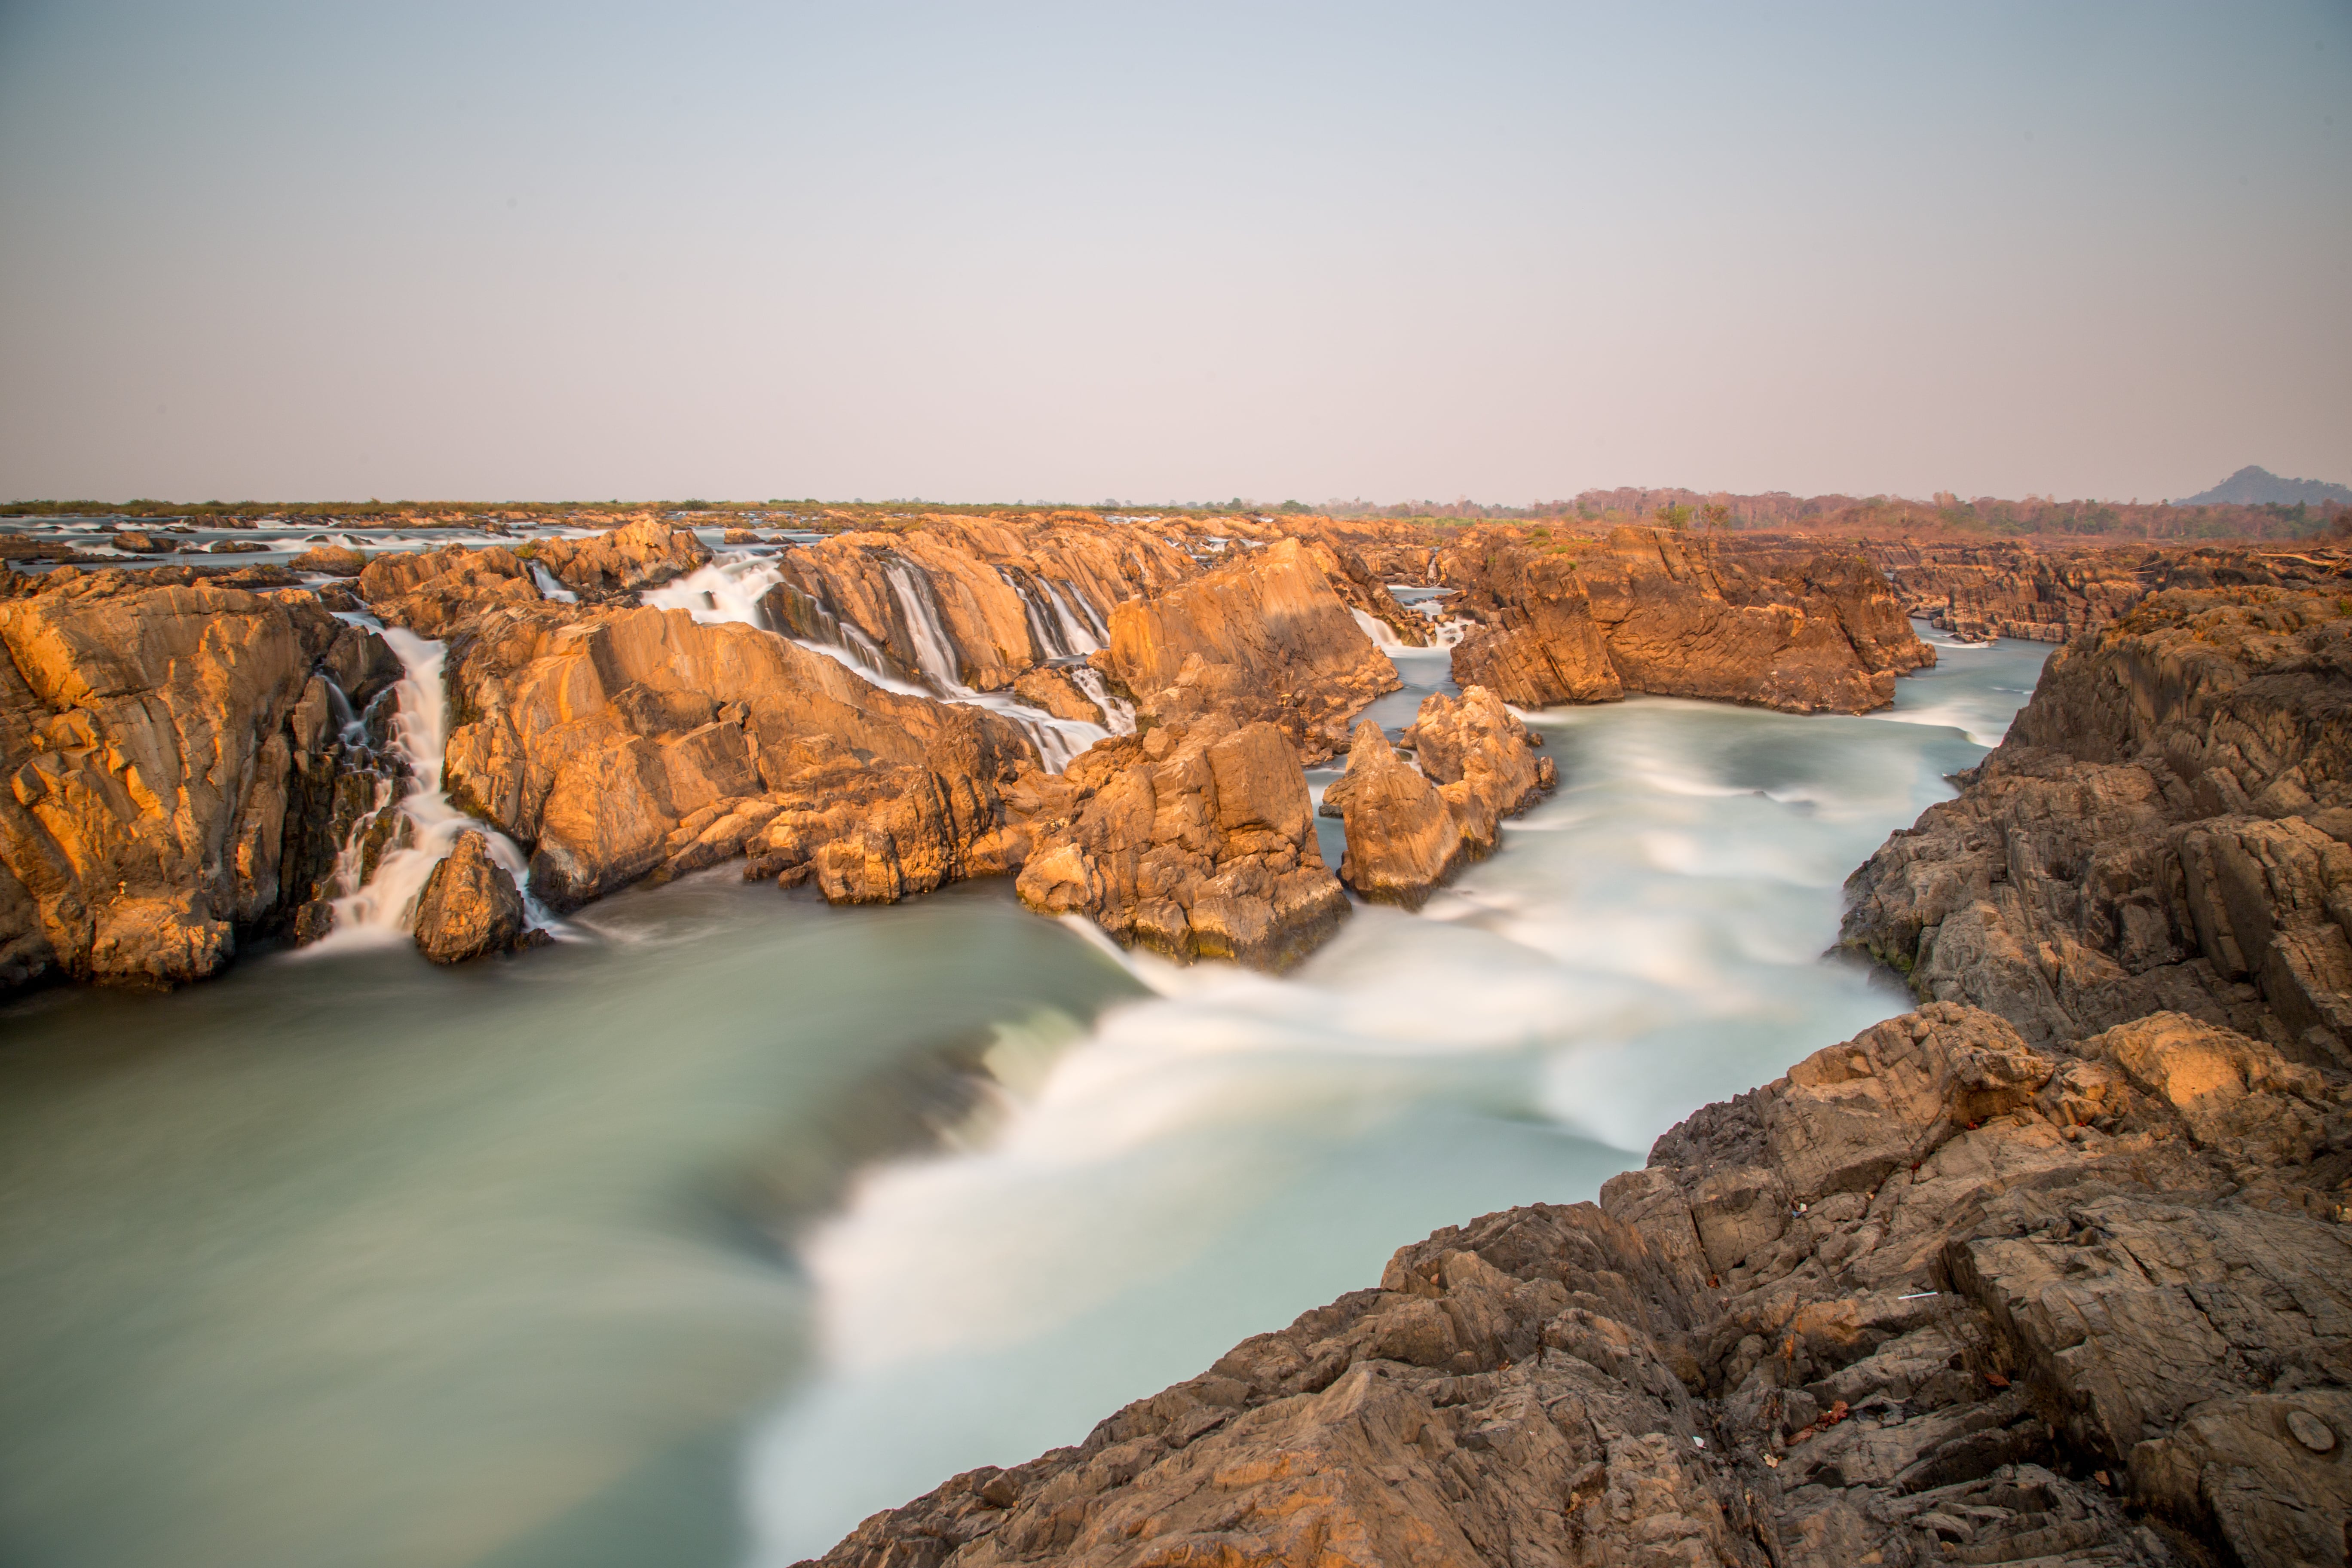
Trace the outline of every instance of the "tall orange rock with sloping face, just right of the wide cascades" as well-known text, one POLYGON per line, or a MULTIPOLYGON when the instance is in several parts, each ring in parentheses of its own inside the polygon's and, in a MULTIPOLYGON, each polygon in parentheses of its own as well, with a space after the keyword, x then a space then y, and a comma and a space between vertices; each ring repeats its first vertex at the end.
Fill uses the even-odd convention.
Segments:
POLYGON ((1110 668, 1148 715, 1277 724, 1305 762, 1338 750, 1350 719, 1402 684, 1296 538, 1115 607, 1110 668))

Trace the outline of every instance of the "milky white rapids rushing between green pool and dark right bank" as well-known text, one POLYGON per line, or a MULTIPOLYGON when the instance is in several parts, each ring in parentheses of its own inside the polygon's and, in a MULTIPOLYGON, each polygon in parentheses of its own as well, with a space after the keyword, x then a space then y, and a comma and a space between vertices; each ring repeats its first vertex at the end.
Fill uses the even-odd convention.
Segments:
MULTIPOLYGON (((1955 646, 1886 717, 1529 715, 1559 792, 1421 914, 1357 907, 1291 978, 1124 954, 1150 999, 1021 1058, 967 1147, 868 1171, 802 1241, 823 1373, 750 1446, 760 1561, 1077 1441, 1437 1225, 1590 1199, 1698 1105, 1905 1011, 1823 959, 1842 882, 2044 654, 1955 646)), ((1397 663, 1390 726, 1444 654, 1397 663)))

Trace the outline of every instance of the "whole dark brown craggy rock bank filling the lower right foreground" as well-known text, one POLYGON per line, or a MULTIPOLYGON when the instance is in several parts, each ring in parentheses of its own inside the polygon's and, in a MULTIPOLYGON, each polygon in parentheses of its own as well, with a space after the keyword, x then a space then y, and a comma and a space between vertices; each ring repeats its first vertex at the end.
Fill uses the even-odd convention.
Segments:
POLYGON ((1919 1011, 821 1561, 2345 1561, 2347 628, 2072 644, 1856 872, 1919 1011))

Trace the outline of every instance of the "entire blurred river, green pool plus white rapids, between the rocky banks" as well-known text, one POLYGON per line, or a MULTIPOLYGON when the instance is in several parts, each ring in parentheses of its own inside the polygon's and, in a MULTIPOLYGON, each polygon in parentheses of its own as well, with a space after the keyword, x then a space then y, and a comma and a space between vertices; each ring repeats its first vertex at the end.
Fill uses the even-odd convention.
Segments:
POLYGON ((720 870, 515 961, 9 1004, 0 1561, 786 1563, 1075 1441, 1900 1011, 1839 884, 2044 654, 1538 715, 1503 853, 1284 980, 720 870))

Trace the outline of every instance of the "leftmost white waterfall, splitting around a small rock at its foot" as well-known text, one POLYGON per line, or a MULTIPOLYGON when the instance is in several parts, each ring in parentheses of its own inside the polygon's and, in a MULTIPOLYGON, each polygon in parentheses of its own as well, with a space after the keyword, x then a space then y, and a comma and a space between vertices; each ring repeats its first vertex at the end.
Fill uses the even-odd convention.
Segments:
MULTIPOLYGON (((400 684, 395 686, 400 708, 390 724, 390 750, 409 764, 409 792, 400 797, 397 811, 407 818, 407 844, 388 849, 376 860, 376 875, 355 893, 334 900, 334 931, 306 947, 306 952, 332 952, 343 947, 374 947, 395 943, 416 924, 416 898, 426 889, 426 877, 456 846, 456 835, 468 827, 489 839, 492 858, 506 867, 522 889, 524 907, 534 926, 553 929, 553 919, 532 900, 529 865, 515 842, 487 823, 477 823, 449 804, 442 790, 442 752, 449 743, 449 696, 442 689, 442 658, 447 646, 416 632, 388 625, 381 632, 400 658, 400 684)), ((350 842, 336 856, 336 882, 360 875, 360 844, 367 837, 365 823, 374 823, 386 804, 390 780, 376 792, 376 813, 362 818, 350 842)))

